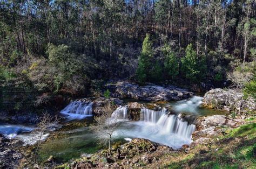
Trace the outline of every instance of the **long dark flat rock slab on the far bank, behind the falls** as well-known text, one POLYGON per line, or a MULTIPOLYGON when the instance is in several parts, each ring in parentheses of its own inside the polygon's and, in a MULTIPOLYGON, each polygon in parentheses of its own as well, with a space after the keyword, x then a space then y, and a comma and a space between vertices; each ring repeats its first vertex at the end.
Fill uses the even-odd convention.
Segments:
POLYGON ((107 85, 112 92, 112 96, 118 98, 134 98, 146 101, 178 101, 184 100, 193 95, 185 89, 173 86, 157 86, 148 84, 139 86, 135 83, 119 81, 114 84, 107 85))

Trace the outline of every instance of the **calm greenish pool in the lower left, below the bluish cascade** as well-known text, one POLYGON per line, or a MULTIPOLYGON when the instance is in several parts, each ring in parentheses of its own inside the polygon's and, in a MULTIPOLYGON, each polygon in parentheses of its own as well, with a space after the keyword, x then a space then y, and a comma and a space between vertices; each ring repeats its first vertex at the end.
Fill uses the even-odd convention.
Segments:
POLYGON ((102 148, 97 144, 95 135, 88 128, 60 132, 59 137, 42 144, 39 156, 42 160, 53 156, 57 162, 76 159, 82 154, 95 153, 102 148))

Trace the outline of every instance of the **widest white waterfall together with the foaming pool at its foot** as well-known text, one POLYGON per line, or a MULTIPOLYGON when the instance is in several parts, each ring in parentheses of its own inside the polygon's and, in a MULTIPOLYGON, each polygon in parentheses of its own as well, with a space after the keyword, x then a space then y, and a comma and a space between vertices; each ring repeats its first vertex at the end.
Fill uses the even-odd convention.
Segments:
MULTIPOLYGON (((115 112, 116 113, 116 112, 115 112)), ((196 129, 193 124, 182 121, 177 115, 167 115, 164 108, 159 111, 143 108, 140 121, 125 122, 122 128, 114 133, 116 137, 146 138, 153 142, 179 149, 184 144, 191 144, 192 132, 196 129)))

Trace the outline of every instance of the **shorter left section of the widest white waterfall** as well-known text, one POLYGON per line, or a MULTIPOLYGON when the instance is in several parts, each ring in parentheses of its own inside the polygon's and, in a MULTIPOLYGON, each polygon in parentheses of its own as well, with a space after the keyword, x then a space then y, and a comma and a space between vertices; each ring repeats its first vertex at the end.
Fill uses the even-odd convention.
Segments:
POLYGON ((161 116, 165 115, 165 113, 166 113, 165 108, 163 108, 162 110, 159 110, 159 111, 142 108, 140 110, 140 120, 144 121, 144 122, 157 123, 158 119, 161 116))

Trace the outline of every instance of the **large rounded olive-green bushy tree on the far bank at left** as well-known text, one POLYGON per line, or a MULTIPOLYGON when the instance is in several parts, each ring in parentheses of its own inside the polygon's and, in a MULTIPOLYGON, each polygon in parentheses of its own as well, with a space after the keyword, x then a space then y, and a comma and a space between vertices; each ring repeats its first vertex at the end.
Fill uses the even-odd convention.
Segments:
POLYGON ((71 52, 69 46, 49 44, 47 53, 54 74, 55 91, 62 89, 72 94, 83 91, 83 83, 86 81, 83 71, 85 65, 75 53, 71 52))

